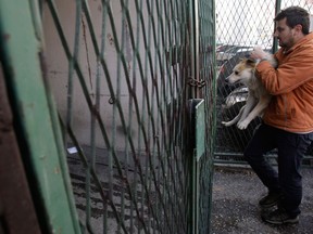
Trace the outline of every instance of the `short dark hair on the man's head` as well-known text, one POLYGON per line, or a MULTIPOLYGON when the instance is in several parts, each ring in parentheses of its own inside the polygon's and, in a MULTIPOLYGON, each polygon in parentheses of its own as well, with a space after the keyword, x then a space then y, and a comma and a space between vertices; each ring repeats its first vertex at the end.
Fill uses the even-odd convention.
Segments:
POLYGON ((300 24, 302 26, 302 32, 304 35, 309 34, 310 30, 310 14, 308 11, 300 6, 290 6, 280 11, 274 21, 281 21, 286 17, 286 24, 293 28, 296 25, 300 24))

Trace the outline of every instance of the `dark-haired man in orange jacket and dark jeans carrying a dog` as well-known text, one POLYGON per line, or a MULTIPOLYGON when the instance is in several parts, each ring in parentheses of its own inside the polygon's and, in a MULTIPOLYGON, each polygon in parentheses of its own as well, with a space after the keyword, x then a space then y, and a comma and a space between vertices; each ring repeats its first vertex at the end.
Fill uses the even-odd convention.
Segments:
POLYGON ((261 60, 256 76, 273 96, 245 158, 268 188, 259 202, 261 208, 277 205, 274 211, 263 212, 262 219, 273 224, 297 223, 302 199, 300 166, 313 140, 313 34, 309 34, 309 13, 299 6, 283 10, 274 21, 274 37, 280 46, 275 53, 278 67, 271 66, 262 50, 251 52, 252 58, 261 60), (274 148, 278 170, 263 156, 274 148))

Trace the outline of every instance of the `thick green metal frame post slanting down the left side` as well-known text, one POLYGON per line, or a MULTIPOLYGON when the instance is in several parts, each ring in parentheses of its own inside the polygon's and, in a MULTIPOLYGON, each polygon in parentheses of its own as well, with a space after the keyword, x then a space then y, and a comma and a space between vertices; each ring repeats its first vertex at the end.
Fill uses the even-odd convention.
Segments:
POLYGON ((7 89, 18 116, 15 131, 42 232, 79 234, 61 128, 46 86, 39 2, 0 1, 0 34, 7 89))

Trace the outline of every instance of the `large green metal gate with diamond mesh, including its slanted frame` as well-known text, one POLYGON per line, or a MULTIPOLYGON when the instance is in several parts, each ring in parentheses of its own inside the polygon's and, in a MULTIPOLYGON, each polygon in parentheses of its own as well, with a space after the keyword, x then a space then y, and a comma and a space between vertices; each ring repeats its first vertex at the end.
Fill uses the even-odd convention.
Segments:
POLYGON ((214 2, 0 9, 1 61, 42 232, 209 233, 214 2))

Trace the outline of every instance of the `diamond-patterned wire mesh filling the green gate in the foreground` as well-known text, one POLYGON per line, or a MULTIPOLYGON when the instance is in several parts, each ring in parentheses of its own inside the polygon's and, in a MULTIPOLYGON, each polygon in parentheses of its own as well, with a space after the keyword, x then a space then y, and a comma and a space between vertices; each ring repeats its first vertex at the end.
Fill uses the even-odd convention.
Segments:
MULTIPOLYGON (((47 0, 41 9, 49 83, 82 229, 187 233, 189 1, 47 0)), ((214 25, 213 11, 203 28, 208 21, 214 25)), ((214 39, 213 29, 204 31, 200 44, 210 51, 203 46, 201 79, 210 77, 212 86, 205 96, 213 134, 214 39)), ((211 162, 201 172, 205 222, 211 162)))

